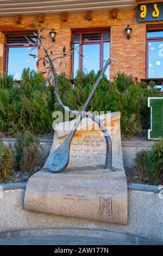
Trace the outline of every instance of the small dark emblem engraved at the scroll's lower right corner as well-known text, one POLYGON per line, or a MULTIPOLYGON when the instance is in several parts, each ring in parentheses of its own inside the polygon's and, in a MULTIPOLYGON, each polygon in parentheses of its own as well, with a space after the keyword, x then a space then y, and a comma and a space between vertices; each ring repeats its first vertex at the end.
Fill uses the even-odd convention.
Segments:
POLYGON ((99 215, 104 214, 112 215, 112 197, 99 197, 99 215))

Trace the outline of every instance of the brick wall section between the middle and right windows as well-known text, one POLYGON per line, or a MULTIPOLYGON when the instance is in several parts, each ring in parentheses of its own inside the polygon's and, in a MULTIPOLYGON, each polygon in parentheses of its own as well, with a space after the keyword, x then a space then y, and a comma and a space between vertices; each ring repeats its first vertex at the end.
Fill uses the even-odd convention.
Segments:
POLYGON ((115 61, 110 67, 110 77, 117 71, 134 77, 145 78, 146 72, 146 25, 132 25, 130 40, 126 38, 126 26, 111 27, 110 57, 115 61))

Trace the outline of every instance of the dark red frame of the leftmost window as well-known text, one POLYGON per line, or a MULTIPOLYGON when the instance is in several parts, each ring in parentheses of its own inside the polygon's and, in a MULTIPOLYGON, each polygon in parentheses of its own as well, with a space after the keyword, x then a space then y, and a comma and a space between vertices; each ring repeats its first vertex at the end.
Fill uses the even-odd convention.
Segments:
MULTIPOLYGON (((16 37, 20 37, 20 36, 29 36, 32 35, 32 32, 23 32, 23 33, 16 33, 16 34, 6 34, 5 35, 5 48, 4 48, 4 66, 3 66, 3 72, 7 73, 8 72, 8 53, 9 53, 9 48, 18 48, 18 47, 27 47, 24 46, 24 44, 26 44, 26 42, 23 43, 13 43, 13 44, 7 44, 7 38, 16 38, 16 37)), ((27 42, 28 43, 28 42, 27 42)), ((32 47, 32 45, 29 45, 28 47, 32 47)))

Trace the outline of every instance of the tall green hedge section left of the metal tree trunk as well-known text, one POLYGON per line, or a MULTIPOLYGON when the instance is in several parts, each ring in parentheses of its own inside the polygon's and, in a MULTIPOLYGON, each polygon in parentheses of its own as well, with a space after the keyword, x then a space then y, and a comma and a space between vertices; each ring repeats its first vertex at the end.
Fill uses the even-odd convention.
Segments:
POLYGON ((0 131, 52 131, 54 94, 52 86, 45 87, 45 77, 28 68, 20 84, 11 76, 8 80, 7 76, 0 80, 0 131))

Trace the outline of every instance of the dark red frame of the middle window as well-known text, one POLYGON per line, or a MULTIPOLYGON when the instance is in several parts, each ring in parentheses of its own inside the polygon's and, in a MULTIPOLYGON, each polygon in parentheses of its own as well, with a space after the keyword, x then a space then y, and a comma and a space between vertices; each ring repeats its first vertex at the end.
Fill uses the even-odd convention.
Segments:
MULTIPOLYGON (((104 42, 110 42, 109 40, 104 40, 104 33, 109 32, 110 28, 105 29, 87 29, 87 30, 74 30, 72 31, 72 43, 73 44, 81 44, 82 43, 82 34, 93 34, 93 33, 101 33, 101 40, 88 40, 84 43, 84 45, 92 45, 92 44, 99 44, 100 50, 99 50, 99 70, 103 69, 103 49, 104 49, 104 42), (74 34, 79 34, 79 41, 74 41, 74 34)), ((79 47, 79 71, 83 70, 83 45, 79 47)), ((72 54, 72 72, 71 77, 73 78, 73 59, 74 54, 72 54)))

